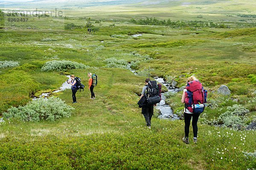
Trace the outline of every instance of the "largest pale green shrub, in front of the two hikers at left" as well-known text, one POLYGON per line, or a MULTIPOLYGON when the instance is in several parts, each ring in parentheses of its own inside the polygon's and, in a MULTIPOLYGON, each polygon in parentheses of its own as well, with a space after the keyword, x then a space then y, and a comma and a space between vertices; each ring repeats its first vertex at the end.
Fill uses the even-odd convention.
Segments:
POLYGON ((62 117, 70 117, 74 108, 65 104, 59 98, 40 98, 29 102, 25 106, 9 108, 3 116, 7 119, 18 119, 28 122, 38 122, 40 120, 55 121, 62 117))

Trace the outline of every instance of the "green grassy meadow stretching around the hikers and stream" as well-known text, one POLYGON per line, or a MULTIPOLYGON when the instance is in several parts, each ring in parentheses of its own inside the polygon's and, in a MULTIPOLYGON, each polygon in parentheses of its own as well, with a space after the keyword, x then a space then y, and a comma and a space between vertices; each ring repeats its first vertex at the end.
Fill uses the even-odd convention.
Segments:
MULTIPOLYGON (((256 133, 245 130, 256 121, 255 14, 250 0, 68 8, 65 17, 26 23, 8 22, 12 17, 0 12, 0 169, 255 169, 256 133), (42 71, 52 60, 87 67, 42 71), (159 119, 157 109, 146 127, 137 101, 148 70, 151 79, 175 80, 179 88, 194 75, 208 90, 198 144, 184 144, 183 120, 159 119), (90 99, 88 72, 98 75, 96 99, 90 99), (74 108, 70 117, 4 116, 58 90, 70 74, 85 85, 77 103, 70 89, 52 95, 74 108), (221 85, 230 96, 217 93, 221 85)), ((166 102, 182 119, 181 96, 169 94, 166 102)))

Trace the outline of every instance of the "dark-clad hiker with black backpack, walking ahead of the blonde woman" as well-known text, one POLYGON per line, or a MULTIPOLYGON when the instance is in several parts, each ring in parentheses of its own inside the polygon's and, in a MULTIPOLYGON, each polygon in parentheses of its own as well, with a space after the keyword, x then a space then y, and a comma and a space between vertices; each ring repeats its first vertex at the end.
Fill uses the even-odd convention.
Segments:
POLYGON ((151 129, 151 118, 154 113, 154 106, 159 102, 160 96, 157 88, 157 82, 146 79, 138 105, 142 108, 141 113, 143 114, 149 129, 151 129))

